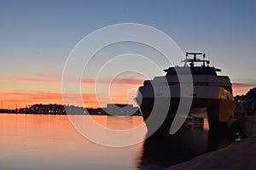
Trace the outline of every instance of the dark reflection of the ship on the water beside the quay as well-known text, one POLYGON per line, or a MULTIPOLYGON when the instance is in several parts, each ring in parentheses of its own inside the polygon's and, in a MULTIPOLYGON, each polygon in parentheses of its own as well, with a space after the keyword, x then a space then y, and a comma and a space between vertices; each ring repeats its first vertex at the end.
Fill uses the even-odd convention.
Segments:
POLYGON ((145 139, 137 168, 165 169, 208 151, 224 148, 235 140, 231 134, 216 136, 209 133, 206 121, 204 118, 202 128, 183 126, 175 134, 158 134, 145 139))

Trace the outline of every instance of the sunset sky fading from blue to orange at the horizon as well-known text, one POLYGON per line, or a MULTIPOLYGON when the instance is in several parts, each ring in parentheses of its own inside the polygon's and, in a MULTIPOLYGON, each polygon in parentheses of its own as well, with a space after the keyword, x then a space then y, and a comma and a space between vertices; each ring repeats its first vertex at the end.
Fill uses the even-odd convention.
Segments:
MULTIPOLYGON (((172 37, 183 53, 206 53, 221 75, 230 76, 234 95, 246 94, 256 87, 255 8, 253 0, 0 0, 0 107, 62 104, 61 77, 73 48, 91 32, 121 23, 153 26, 172 37)), ((99 84, 108 84, 113 102, 132 103, 145 78, 131 71, 110 85, 104 78, 99 84)), ((84 103, 96 107, 95 79, 82 82, 84 103)), ((97 95, 102 105, 109 102, 104 90, 97 95)))

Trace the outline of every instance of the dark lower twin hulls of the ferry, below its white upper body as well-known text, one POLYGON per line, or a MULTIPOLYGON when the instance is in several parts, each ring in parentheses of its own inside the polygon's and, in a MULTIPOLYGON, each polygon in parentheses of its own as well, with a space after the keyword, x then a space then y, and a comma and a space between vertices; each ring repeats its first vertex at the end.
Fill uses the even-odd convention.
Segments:
MULTIPOLYGON (((143 120, 148 127, 148 133, 154 133, 151 131, 155 131, 155 128, 152 127, 152 123, 154 122, 147 122, 148 116, 151 115, 151 112, 154 107, 154 98, 143 98, 137 99, 137 101, 141 101, 140 110, 143 114, 143 120)), ((167 115, 163 123, 160 127, 155 131, 155 133, 169 133, 170 128, 172 126, 172 122, 174 117, 176 116, 178 105, 180 102, 179 98, 161 98, 158 99, 158 103, 170 103, 169 109, 167 110, 167 115)), ((182 106, 182 105, 181 105, 182 106)), ((163 111, 163 107, 166 105, 157 105, 158 108, 154 108, 154 111, 157 111, 157 114, 163 111)), ((190 107, 191 110, 193 108, 207 108, 207 118, 209 122, 210 131, 218 131, 219 129, 223 129, 226 127, 226 123, 230 120, 233 116, 235 111, 236 104, 233 100, 229 99, 192 99, 192 105, 190 107)))

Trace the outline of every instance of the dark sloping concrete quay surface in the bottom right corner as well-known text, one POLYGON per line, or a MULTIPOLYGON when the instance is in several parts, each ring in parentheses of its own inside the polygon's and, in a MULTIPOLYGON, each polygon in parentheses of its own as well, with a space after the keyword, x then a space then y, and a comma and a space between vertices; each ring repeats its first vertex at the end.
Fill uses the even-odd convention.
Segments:
POLYGON ((194 169, 256 169, 256 136, 241 139, 220 150, 208 152, 167 168, 168 170, 194 169))

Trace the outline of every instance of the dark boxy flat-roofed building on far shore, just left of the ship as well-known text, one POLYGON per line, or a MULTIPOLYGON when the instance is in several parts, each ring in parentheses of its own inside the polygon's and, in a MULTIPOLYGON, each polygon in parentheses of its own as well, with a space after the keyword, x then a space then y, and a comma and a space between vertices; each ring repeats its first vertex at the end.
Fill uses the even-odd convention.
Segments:
POLYGON ((108 104, 102 108, 102 114, 108 116, 141 116, 138 107, 128 104, 108 104))

